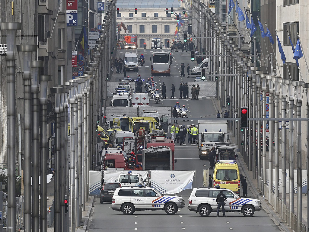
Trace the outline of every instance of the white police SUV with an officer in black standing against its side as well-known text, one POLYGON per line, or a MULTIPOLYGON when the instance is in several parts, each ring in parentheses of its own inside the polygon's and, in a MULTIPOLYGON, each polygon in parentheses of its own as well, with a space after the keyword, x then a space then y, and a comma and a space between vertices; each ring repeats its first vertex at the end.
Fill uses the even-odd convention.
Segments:
MULTIPOLYGON (((217 212, 217 195, 223 191, 226 195, 225 211, 240 212, 245 217, 252 217, 255 211, 262 209, 260 200, 247 197, 239 197, 230 189, 223 188, 193 188, 189 196, 188 210, 198 212, 200 216, 207 217, 211 212, 217 212)), ((220 209, 220 212, 222 209, 220 209)))

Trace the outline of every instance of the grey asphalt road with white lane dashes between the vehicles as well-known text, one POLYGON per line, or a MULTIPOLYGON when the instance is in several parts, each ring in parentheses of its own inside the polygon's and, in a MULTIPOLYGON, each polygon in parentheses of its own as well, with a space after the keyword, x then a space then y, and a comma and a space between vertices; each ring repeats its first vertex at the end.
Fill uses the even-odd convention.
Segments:
MULTIPOLYGON (((123 57, 124 50, 118 50, 117 57, 123 57)), ((138 74, 143 79, 151 76, 150 73, 150 49, 139 49, 137 51, 138 57, 141 53, 146 57, 145 66, 139 67, 139 72, 127 72, 130 77, 137 77, 138 74)), ((195 67, 195 63, 190 61, 189 52, 173 52, 174 59, 171 65, 171 76, 169 77, 154 77, 155 82, 158 82, 159 89, 163 82, 167 85, 167 97, 171 97, 171 84, 176 86, 175 97, 177 99, 163 99, 159 102, 162 106, 173 106, 176 101, 179 104, 186 105, 189 110, 189 117, 208 116, 214 117, 216 114, 213 102, 210 98, 203 97, 201 100, 188 100, 179 99, 179 83, 194 81, 195 77, 187 78, 187 71, 185 68, 186 77, 180 77, 180 64, 184 63, 185 67, 189 63, 190 67, 195 67)), ((113 75, 113 80, 123 78, 122 74, 113 75)), ((156 105, 153 100, 150 100, 150 105, 156 105)), ((189 119, 189 118, 188 118, 189 119)), ((197 124, 196 121, 178 121, 180 125, 197 124)), ((188 139, 186 138, 186 142, 188 139)), ((186 144, 180 146, 175 144, 175 164, 176 170, 196 170, 193 187, 202 186, 203 169, 210 167, 209 161, 200 160, 198 158, 198 148, 196 145, 186 144)), ((226 213, 227 217, 216 217, 216 213, 211 213, 209 217, 200 217, 198 213, 190 212, 187 209, 188 196, 191 190, 182 191, 180 194, 184 197, 186 206, 179 210, 175 215, 167 215, 163 211, 137 211, 133 215, 125 216, 121 212, 111 209, 111 203, 100 204, 99 198, 96 199, 94 212, 91 217, 91 225, 89 231, 108 231, 108 232, 129 232, 129 231, 143 231, 143 232, 179 232, 180 230, 190 231, 228 231, 237 230, 245 232, 258 232, 258 231, 280 231, 273 221, 268 217, 264 210, 255 212, 253 217, 243 217, 241 213, 226 213), (207 226, 207 227, 205 227, 207 226)), ((250 196, 250 189, 248 195, 250 196)), ((221 214, 222 215, 222 214, 221 214)))

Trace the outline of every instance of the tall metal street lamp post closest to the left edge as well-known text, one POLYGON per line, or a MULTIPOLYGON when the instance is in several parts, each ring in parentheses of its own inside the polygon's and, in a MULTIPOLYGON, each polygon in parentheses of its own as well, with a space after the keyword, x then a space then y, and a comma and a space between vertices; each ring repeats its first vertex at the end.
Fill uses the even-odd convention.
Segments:
POLYGON ((16 153, 15 153, 15 125, 16 125, 16 103, 15 103, 15 47, 16 32, 20 30, 21 23, 0 23, 1 31, 6 30, 6 91, 7 91, 7 231, 16 231, 16 153))

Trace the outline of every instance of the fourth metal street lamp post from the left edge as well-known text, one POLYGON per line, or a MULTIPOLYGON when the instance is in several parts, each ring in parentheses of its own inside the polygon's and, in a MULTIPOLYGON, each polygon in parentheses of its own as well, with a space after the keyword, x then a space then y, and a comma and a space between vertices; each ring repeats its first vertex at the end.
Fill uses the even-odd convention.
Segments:
POLYGON ((48 139, 47 139, 47 84, 52 79, 51 75, 40 75, 40 170, 41 170, 41 189, 40 189, 40 230, 47 231, 47 156, 48 156, 48 139))

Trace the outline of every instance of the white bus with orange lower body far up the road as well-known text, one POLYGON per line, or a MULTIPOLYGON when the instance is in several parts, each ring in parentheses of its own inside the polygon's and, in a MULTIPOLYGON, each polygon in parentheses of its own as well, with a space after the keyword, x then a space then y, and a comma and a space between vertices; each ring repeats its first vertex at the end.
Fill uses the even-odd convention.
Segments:
POLYGON ((151 75, 167 75, 171 74, 170 54, 168 52, 153 52, 151 60, 151 75))

